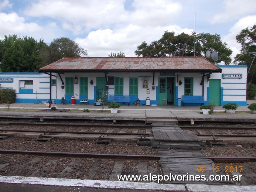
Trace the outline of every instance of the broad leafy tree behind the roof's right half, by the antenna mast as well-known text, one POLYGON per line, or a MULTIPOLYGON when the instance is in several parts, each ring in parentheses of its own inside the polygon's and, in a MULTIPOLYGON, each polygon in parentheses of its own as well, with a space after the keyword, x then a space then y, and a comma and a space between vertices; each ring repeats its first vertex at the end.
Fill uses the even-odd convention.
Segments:
MULTIPOLYGON (((229 65, 231 62, 231 49, 227 48, 227 44, 221 41, 220 35, 211 35, 209 33, 191 35, 181 33, 175 35, 174 32, 165 31, 160 40, 153 41, 150 45, 144 41, 137 47, 135 55, 137 56, 205 56, 207 50, 218 51, 221 59, 216 61, 225 62, 229 65)), ((213 62, 211 58, 208 58, 213 62)))

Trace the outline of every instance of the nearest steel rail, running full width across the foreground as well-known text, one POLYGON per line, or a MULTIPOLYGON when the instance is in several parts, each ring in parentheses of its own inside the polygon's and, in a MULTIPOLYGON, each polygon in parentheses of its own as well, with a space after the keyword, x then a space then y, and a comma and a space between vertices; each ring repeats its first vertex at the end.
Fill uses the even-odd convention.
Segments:
POLYGON ((0 150, 0 154, 12 155, 36 155, 51 157, 74 157, 74 158, 103 158, 122 160, 148 160, 155 161, 160 158, 191 158, 211 159, 214 162, 256 162, 256 157, 207 157, 207 156, 168 156, 168 155, 135 155, 135 154, 97 154, 97 153, 74 153, 74 152, 50 152, 50 151, 22 151, 0 150))

